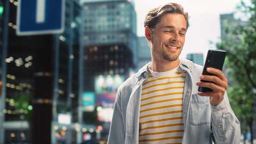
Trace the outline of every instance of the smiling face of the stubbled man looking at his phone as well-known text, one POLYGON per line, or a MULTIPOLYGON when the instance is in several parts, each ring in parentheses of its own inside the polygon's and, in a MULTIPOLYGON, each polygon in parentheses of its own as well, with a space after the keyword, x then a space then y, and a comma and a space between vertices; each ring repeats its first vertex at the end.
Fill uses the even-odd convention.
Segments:
POLYGON ((151 34, 152 58, 175 61, 185 42, 186 20, 182 14, 166 13, 151 34))

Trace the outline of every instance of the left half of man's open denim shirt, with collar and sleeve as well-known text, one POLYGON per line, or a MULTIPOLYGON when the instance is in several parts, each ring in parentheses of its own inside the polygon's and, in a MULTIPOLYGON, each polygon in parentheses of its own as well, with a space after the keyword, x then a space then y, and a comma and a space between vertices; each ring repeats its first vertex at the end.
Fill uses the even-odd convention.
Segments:
POLYGON ((146 79, 147 65, 142 67, 134 76, 128 78, 117 90, 108 144, 138 143, 139 98, 141 96, 141 89, 138 90, 138 88, 140 88, 143 81, 146 79), (137 93, 135 94, 134 91, 137 93), (138 113, 134 114, 133 109, 138 113))

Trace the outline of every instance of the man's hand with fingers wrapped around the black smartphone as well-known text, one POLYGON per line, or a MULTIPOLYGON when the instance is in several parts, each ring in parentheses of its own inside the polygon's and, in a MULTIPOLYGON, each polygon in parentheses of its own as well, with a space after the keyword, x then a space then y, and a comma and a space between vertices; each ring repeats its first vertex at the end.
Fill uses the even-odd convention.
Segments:
POLYGON ((199 96, 210 96, 210 103, 214 106, 218 105, 222 102, 224 98, 225 91, 228 87, 227 78, 224 74, 219 70, 212 67, 208 67, 206 69, 207 72, 213 73, 217 76, 209 76, 209 75, 201 75, 200 79, 207 80, 213 83, 206 82, 196 82, 197 86, 211 88, 213 91, 211 92, 197 92, 199 96))

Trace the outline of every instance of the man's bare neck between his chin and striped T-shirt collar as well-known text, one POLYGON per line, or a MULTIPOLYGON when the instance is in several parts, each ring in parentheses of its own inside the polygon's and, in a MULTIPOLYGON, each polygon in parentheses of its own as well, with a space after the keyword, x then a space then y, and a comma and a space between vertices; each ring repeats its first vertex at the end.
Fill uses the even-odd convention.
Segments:
POLYGON ((175 61, 165 61, 165 60, 152 60, 149 68, 153 72, 167 72, 175 69, 180 64, 180 59, 175 61))

